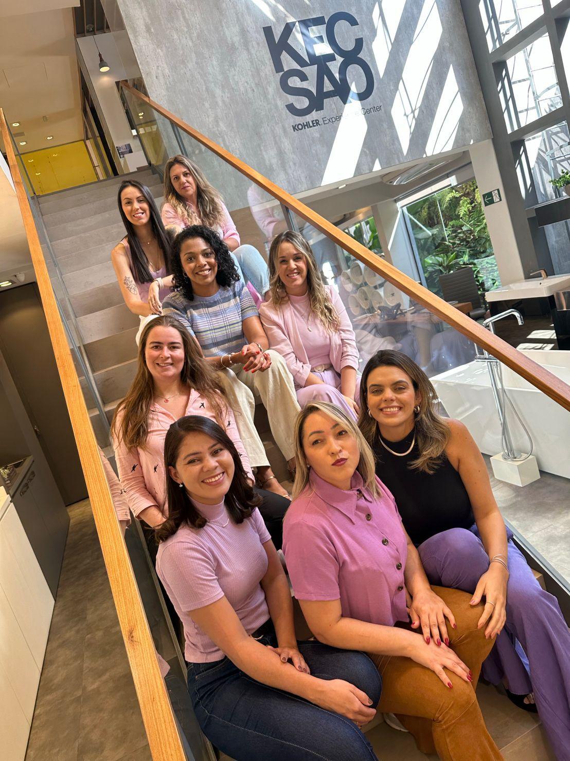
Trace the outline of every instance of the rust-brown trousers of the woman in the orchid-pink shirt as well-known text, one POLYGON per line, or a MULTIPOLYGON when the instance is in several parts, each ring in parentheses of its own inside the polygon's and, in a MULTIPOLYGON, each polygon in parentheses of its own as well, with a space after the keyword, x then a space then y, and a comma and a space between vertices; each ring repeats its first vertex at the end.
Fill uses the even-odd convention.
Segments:
MULTIPOLYGON (((378 711, 394 713, 413 734, 423 753, 438 753, 442 761, 502 759, 489 735, 475 695, 481 664, 495 644, 477 629, 483 605, 470 606, 470 594, 432 587, 451 608, 457 623, 446 619, 450 646, 473 672, 473 684, 445 670, 453 688, 446 687, 432 670, 410 658, 370 654, 382 676, 378 711)), ((421 635, 421 633, 420 633, 421 635)))

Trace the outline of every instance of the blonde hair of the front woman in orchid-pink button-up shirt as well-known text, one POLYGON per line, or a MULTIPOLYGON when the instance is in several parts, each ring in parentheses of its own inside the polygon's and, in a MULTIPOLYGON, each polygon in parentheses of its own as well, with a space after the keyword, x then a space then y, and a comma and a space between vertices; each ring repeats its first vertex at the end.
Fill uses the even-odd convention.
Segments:
POLYGON ((330 402, 310 402, 299 412, 295 421, 293 436, 295 442, 296 473, 293 484, 293 499, 298 497, 309 483, 309 465, 307 464, 305 450, 302 445, 302 436, 306 420, 313 412, 321 412, 323 415, 333 419, 334 422, 342 425, 350 436, 356 439, 360 453, 356 470, 362 476, 365 489, 368 489, 372 495, 377 496, 378 484, 376 483, 374 454, 356 423, 342 409, 330 402))

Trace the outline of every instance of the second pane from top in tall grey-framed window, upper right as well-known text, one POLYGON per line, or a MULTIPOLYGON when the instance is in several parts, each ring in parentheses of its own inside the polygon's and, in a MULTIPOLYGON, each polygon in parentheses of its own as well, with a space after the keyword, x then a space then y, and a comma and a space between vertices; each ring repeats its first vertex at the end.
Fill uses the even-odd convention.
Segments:
POLYGON ((498 87, 509 132, 562 106, 547 34, 508 59, 498 87))

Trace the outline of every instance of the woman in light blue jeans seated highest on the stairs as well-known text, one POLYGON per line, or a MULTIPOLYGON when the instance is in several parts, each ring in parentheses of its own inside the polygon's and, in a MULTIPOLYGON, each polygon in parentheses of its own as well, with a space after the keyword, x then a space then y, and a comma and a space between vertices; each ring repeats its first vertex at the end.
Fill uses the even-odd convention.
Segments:
POLYGON ((178 154, 164 167, 162 219, 167 229, 179 233, 192 224, 214 230, 230 249, 240 277, 250 282, 261 298, 269 290, 268 266, 261 253, 241 244, 239 233, 222 196, 192 159, 178 154))

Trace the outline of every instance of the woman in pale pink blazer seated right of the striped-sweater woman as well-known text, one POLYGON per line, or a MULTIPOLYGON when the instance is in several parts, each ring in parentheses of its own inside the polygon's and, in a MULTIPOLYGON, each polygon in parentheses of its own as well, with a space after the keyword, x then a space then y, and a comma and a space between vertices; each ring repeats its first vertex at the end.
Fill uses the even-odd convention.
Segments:
POLYGON ((293 375, 301 407, 336 404, 356 419, 358 349, 337 291, 325 285, 311 247, 287 230, 269 252, 271 298, 259 307, 269 346, 293 375))

